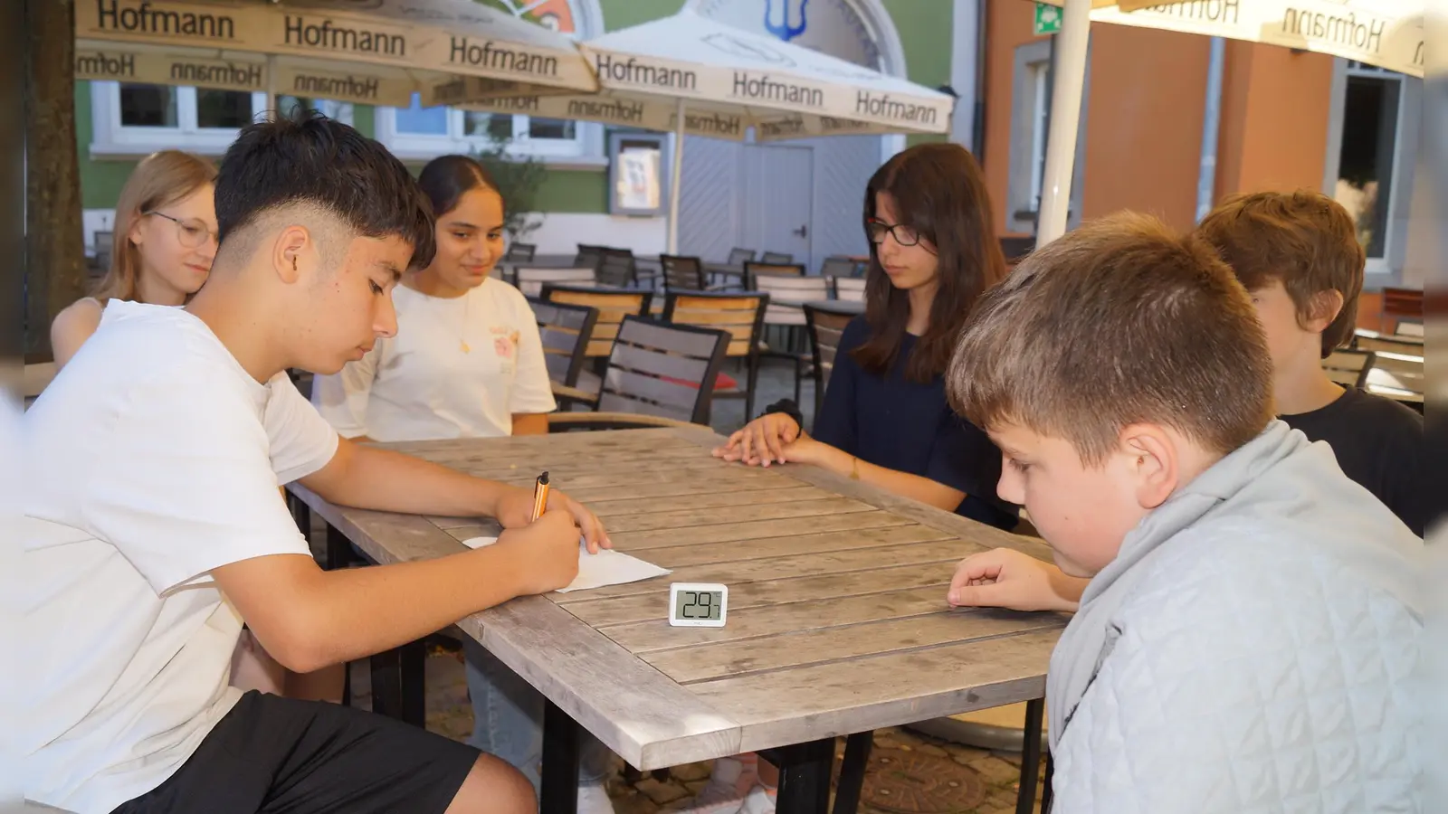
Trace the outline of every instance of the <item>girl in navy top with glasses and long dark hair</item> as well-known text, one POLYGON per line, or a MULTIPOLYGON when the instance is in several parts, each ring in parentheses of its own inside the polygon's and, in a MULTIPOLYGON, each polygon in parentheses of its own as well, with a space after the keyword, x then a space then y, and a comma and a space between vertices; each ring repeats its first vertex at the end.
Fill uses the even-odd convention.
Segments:
POLYGON ((1001 529, 1001 450, 946 401, 943 374, 976 298, 1005 277, 990 198, 960 145, 898 154, 870 178, 864 316, 844 330, 824 404, 805 435, 794 403, 714 455, 749 465, 814 463, 1001 529))

